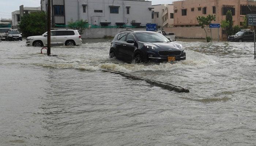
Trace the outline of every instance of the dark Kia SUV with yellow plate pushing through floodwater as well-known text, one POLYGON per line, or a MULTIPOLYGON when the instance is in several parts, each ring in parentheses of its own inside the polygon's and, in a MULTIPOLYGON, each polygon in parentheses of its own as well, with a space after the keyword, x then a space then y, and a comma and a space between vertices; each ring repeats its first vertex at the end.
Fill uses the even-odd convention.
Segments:
POLYGON ((109 57, 116 57, 125 62, 140 63, 150 60, 185 60, 186 53, 182 45, 171 42, 158 32, 126 30, 114 37, 109 57))

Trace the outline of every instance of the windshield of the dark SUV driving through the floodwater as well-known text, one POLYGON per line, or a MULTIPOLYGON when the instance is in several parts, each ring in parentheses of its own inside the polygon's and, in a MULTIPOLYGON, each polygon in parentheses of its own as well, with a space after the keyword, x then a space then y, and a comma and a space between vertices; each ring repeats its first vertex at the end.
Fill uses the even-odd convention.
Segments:
POLYGON ((158 32, 135 32, 140 42, 170 42, 168 38, 158 32))

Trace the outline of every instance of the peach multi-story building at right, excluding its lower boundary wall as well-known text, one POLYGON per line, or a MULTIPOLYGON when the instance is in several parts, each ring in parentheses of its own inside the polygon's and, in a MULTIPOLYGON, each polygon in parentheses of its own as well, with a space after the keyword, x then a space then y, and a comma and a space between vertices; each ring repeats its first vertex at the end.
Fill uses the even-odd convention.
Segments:
POLYGON ((233 25, 242 26, 246 14, 256 14, 255 0, 183 0, 174 1, 174 27, 198 26, 197 16, 216 15, 221 23, 226 19, 226 12, 231 11, 233 25))

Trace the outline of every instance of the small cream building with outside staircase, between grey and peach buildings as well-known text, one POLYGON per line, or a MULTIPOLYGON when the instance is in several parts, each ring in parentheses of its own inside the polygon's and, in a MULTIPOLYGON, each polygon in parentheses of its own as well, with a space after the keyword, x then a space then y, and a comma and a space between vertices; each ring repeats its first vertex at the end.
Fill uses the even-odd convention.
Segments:
POLYGON ((152 5, 152 23, 160 28, 173 27, 174 14, 173 4, 152 5))

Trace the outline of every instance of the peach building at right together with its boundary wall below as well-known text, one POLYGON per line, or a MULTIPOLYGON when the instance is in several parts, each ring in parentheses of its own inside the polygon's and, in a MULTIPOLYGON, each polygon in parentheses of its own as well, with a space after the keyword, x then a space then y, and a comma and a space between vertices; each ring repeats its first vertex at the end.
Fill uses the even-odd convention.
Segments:
MULTIPOLYGON (((174 1, 174 28, 166 31, 176 32, 176 36, 184 38, 205 38, 205 32, 198 26, 197 16, 216 15, 216 21, 221 23, 226 19, 226 12, 231 11, 233 25, 242 26, 246 14, 256 14, 255 0, 183 0, 174 1), (184 32, 185 31, 185 32, 184 32)), ((212 30, 212 38, 218 38, 217 29, 212 30)), ((210 28, 207 30, 210 35, 210 28)), ((219 30, 219 37, 222 30, 219 30)))

